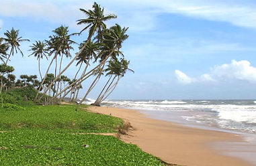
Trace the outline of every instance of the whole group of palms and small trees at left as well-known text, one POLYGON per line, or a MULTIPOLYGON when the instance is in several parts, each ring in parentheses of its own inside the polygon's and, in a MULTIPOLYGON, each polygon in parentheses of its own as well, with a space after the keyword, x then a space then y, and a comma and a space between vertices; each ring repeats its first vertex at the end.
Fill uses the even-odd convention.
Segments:
MULTIPOLYGON (((0 37, 0 65, 1 73, 1 93, 11 88, 31 86, 38 92, 34 98, 35 102, 41 101, 46 95, 51 96, 47 103, 61 100, 69 96, 71 101, 76 101, 79 96, 82 83, 91 80, 89 87, 85 90, 81 104, 91 90, 95 88, 103 76, 108 77, 107 81, 100 90, 95 105, 99 105, 105 98, 113 92, 120 79, 126 74, 130 61, 124 58, 122 44, 128 39, 127 27, 116 24, 107 27, 105 21, 115 19, 114 14, 105 15, 104 9, 97 3, 93 4, 92 9, 80 9, 85 18, 77 20, 77 25, 83 25, 79 33, 69 33, 69 27, 61 25, 52 32, 48 39, 36 41, 30 46, 31 54, 38 61, 37 76, 22 75, 16 79, 13 74, 13 66, 8 66, 11 57, 18 52, 24 56, 20 45, 22 42, 30 42, 19 35, 19 30, 12 28, 0 37), (87 37, 84 32, 87 31, 87 37), (84 42, 78 44, 72 37, 78 35, 83 37, 84 42), (75 55, 71 50, 79 48, 75 55), (48 68, 42 71, 40 60, 48 60, 48 68), (62 66, 64 59, 69 59, 67 66, 62 66), (77 71, 73 72, 73 78, 65 76, 65 72, 75 65, 77 71), (54 68, 54 73, 49 73, 54 68), (89 79, 92 78, 92 79, 89 79)), ((132 71, 132 70, 130 70, 132 71)), ((133 71, 132 71, 133 72, 133 71)))

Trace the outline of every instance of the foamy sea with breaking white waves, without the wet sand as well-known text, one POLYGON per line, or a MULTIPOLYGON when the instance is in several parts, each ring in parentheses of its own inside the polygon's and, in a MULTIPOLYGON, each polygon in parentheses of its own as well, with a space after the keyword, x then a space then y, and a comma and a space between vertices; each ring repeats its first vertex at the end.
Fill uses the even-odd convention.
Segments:
POLYGON ((256 134, 256 100, 106 100, 102 106, 144 110, 162 120, 256 134))

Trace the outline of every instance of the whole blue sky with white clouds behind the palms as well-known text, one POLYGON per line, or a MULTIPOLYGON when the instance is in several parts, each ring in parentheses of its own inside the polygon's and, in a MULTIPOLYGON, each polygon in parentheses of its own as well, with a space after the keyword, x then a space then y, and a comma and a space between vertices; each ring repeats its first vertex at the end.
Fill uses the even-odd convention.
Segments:
MULTIPOLYGON (((67 25, 71 33, 83 26, 77 19, 94 1, 1 0, 0 36, 14 27, 30 42, 22 43, 24 58, 9 63, 15 74, 38 74, 30 46, 48 39, 52 30, 67 25)), ((256 99, 256 2, 253 0, 110 0, 96 1, 105 13, 118 15, 108 27, 129 27, 122 51, 128 72, 111 99, 256 99)), ((82 42, 86 33, 73 39, 82 42)), ((77 50, 73 52, 75 54, 77 50)), ((65 60, 65 64, 69 59, 65 60)), ((48 62, 42 61, 42 71, 48 62)), ((75 66, 65 73, 75 74, 75 66)), ((79 96, 83 96, 89 84, 79 96)), ((89 95, 95 98, 104 84, 89 95)))

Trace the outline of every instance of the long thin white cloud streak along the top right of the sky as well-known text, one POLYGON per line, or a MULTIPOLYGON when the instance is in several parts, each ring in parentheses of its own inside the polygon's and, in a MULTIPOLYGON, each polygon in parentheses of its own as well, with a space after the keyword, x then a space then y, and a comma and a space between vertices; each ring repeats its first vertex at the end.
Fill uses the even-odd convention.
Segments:
POLYGON ((221 0, 126 0, 125 2, 135 7, 147 7, 155 13, 177 13, 188 17, 226 21, 233 25, 256 28, 256 9, 253 1, 241 3, 242 1, 221 0))

